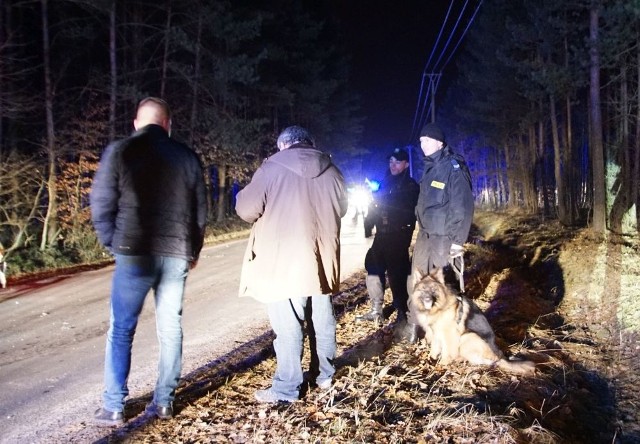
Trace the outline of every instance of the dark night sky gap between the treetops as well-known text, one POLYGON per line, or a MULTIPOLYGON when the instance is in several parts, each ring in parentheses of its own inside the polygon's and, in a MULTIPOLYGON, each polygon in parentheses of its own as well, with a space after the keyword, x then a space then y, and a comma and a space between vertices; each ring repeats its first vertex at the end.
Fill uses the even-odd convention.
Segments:
MULTIPOLYGON (((452 1, 451 22, 464 3, 452 1)), ((469 10, 475 4, 477 2, 468 6, 469 10)), ((412 140, 411 132, 422 72, 449 5, 449 0, 334 2, 335 14, 342 23, 353 57, 352 84, 361 96, 367 118, 365 146, 375 149, 417 143, 412 140)), ((439 93, 446 84, 447 71, 453 67, 451 61, 443 74, 439 93)))

